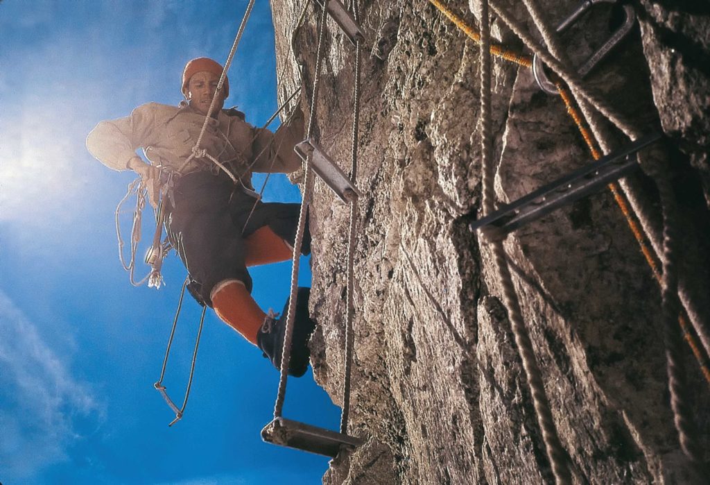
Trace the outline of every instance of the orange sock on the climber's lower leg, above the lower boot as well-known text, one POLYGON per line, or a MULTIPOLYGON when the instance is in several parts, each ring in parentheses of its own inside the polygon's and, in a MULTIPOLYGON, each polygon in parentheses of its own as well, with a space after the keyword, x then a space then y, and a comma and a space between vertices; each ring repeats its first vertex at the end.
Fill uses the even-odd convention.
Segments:
POLYGON ((222 280, 214 285, 209 297, 217 316, 242 337, 256 345, 256 335, 266 318, 246 286, 239 280, 222 280))

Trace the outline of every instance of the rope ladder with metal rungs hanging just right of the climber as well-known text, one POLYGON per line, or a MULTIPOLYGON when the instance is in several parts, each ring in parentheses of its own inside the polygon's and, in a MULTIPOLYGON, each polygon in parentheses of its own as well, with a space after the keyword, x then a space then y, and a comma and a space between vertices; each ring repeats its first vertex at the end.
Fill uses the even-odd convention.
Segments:
MULTIPOLYGON (((326 0, 327 1, 327 0, 326 0)), ((334 0, 329 0, 329 4, 334 3, 334 0)), ((339 3, 339 2, 337 2, 339 3)), ((328 6, 327 5, 327 6, 328 6)), ((320 16, 320 26, 318 34, 318 47, 317 47, 317 58, 315 65, 315 79, 313 82, 313 93, 312 102, 310 109, 310 118, 308 121, 308 129, 306 134, 306 139, 299 144, 300 148, 296 151, 299 155, 304 158, 305 163, 305 182, 303 190, 303 200, 301 204, 301 212, 299 217, 299 224, 296 233, 295 243, 293 247, 293 271, 291 273, 291 291, 290 299, 288 305, 288 313, 286 319, 285 336, 283 342, 283 351, 281 353, 281 369, 280 369, 280 379, 278 386, 278 394, 276 397, 276 403, 274 407, 274 418, 271 423, 268 423, 263 430, 261 430, 261 437, 264 441, 273 443, 274 445, 280 445, 284 447, 290 447, 294 449, 300 449, 302 451, 312 452, 316 454, 323 454, 328 457, 337 457, 337 455, 344 449, 354 449, 363 444, 363 440, 359 438, 347 435, 347 421, 349 413, 349 394, 350 394, 350 373, 351 373, 351 360, 352 360, 352 317, 353 317, 353 305, 352 305, 352 289, 353 289, 353 278, 352 278, 352 267, 354 258, 354 227, 355 227, 355 215, 356 215, 356 203, 357 196, 359 192, 356 190, 354 183, 347 178, 342 170, 340 170, 337 165, 333 162, 331 158, 324 155, 324 152, 320 150, 317 143, 312 139, 312 133, 315 121, 315 111, 317 109, 318 101, 318 88, 320 86, 320 67, 322 65, 323 58, 323 38, 325 31, 325 23, 327 18, 327 13, 331 13, 332 9, 322 8, 320 16), (315 161, 316 158, 319 160, 315 161), (316 170, 315 165, 318 164, 319 168, 316 170), (295 318, 295 303, 297 294, 297 280, 298 280, 298 269, 300 260, 300 249, 305 229, 305 214, 310 203, 310 195, 312 192, 313 175, 316 172, 320 175, 325 182, 341 197, 342 200, 349 202, 350 204, 350 228, 349 228, 349 249, 348 249, 348 309, 346 313, 346 332, 345 332, 345 377, 344 377, 344 401, 343 410, 341 415, 341 425, 340 432, 334 432, 326 430, 321 427, 315 427, 312 425, 307 425, 305 423, 299 423, 297 421, 288 420, 283 418, 283 403, 285 400, 286 383, 288 379, 288 365, 290 361, 290 347, 293 337, 293 321, 295 318), (342 195, 341 195, 342 194, 342 195)), ((323 7, 323 6, 322 6, 323 7)), ((338 8, 342 7, 340 5, 338 8)), ((357 23, 357 6, 356 1, 353 2, 354 16, 353 20, 357 23)), ((331 15, 333 15, 331 13, 331 15)), ((339 23, 340 25, 340 23, 339 23)), ((341 28, 343 28, 341 26, 341 28)), ((361 39, 355 39, 356 48, 356 66, 355 66, 355 89, 354 89, 354 121, 353 121, 353 144, 351 150, 351 178, 356 177, 356 163, 357 163, 357 131, 359 129, 359 72, 360 72, 360 49, 361 39)))

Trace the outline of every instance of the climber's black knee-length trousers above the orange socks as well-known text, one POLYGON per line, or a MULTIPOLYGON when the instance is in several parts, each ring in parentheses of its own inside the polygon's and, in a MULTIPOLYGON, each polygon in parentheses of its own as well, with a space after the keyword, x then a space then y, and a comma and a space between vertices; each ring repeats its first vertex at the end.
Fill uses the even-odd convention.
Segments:
MULTIPOLYGON (((240 280, 251 292, 244 238, 260 227, 270 227, 293 246, 300 204, 258 202, 249 217, 255 201, 241 186, 209 172, 190 173, 176 183, 165 229, 190 273, 190 293, 200 303, 212 307, 209 293, 222 280, 240 280)), ((307 219, 301 253, 310 254, 307 219)))

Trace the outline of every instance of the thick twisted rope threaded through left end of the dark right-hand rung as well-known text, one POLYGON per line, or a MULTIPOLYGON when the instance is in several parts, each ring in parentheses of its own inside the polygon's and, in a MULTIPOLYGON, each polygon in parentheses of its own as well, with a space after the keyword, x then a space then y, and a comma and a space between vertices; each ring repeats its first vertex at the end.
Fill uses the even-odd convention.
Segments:
MULTIPOLYGON (((483 166, 483 201, 484 216, 490 214, 494 207, 493 178, 495 175, 493 166, 493 129, 491 118, 491 53, 490 53, 490 19, 488 18, 488 0, 481 0, 481 164, 483 166)), ((547 400, 545 385, 542 382, 540 367, 537 366, 535 352, 532 349, 532 342, 528 330, 525 328, 523 313, 520 310, 520 302, 515 292, 513 278, 508 268, 506 250, 503 248, 503 241, 496 239, 490 241, 493 258, 496 262, 498 277, 503 286, 503 297, 508 310, 510 327, 515 336, 515 344, 518 347, 520 359, 523 362, 523 369, 528 378, 532 403, 535 407, 537 423, 542 431, 542 440, 545 442, 547 457, 550 459, 552 473, 555 481, 560 485, 572 484, 572 474, 569 471, 567 452, 562 447, 562 442, 557 435, 555 421, 552 419, 550 402, 547 400)))

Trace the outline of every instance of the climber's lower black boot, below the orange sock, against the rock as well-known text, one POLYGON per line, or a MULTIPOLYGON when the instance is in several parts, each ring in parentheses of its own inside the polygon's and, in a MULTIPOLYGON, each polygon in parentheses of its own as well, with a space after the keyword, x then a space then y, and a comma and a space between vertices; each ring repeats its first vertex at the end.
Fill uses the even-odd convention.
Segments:
MULTIPOLYGON (((300 377, 306 373, 310 362, 308 339, 315 324, 308 313, 308 297, 310 288, 298 288, 296 297, 296 315, 293 320, 293 338, 291 339, 291 358, 288 363, 288 374, 300 377)), ((288 317, 288 300, 283 307, 283 313, 277 319, 268 316, 256 335, 256 343, 263 355, 271 361, 276 369, 281 369, 281 352, 286 334, 286 318, 288 317)))

